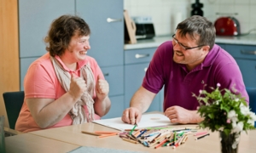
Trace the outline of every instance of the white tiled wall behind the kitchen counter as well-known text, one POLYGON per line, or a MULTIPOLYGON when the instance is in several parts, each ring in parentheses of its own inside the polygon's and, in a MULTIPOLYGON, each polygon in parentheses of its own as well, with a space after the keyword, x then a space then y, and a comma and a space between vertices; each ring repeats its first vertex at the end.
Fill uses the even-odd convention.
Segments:
MULTIPOLYGON (((160 36, 174 31, 177 12, 183 14, 183 20, 190 16, 191 3, 195 0, 124 0, 124 8, 130 16, 151 16, 155 33, 160 36)), ((204 4, 204 16, 212 22, 220 17, 216 13, 237 13, 234 17, 240 22, 241 33, 256 28, 256 0, 200 0, 200 3, 204 4)))

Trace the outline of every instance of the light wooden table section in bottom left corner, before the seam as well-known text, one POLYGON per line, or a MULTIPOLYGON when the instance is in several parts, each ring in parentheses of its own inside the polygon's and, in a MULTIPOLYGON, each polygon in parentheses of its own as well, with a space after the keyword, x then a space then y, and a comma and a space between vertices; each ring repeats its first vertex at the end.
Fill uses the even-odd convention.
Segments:
POLYGON ((45 153, 67 152, 78 148, 79 145, 69 144, 55 139, 47 139, 30 133, 22 133, 5 138, 7 153, 45 153))

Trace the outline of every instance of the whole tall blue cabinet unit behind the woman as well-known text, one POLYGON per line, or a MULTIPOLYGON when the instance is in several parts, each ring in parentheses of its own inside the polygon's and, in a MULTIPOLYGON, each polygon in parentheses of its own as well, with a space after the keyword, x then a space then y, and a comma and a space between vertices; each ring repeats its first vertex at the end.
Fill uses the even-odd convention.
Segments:
POLYGON ((106 117, 124 111, 124 4, 122 0, 19 1, 20 90, 29 65, 46 52, 44 37, 53 20, 77 14, 90 26, 88 55, 95 58, 109 83, 112 108, 106 117))

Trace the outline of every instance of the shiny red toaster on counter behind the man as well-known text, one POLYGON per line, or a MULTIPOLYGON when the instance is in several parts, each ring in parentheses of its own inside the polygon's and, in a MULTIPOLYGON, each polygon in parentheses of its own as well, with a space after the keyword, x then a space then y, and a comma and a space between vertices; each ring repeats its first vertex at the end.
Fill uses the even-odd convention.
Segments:
POLYGON ((235 17, 220 17, 214 23, 216 35, 238 36, 241 34, 240 24, 235 17))

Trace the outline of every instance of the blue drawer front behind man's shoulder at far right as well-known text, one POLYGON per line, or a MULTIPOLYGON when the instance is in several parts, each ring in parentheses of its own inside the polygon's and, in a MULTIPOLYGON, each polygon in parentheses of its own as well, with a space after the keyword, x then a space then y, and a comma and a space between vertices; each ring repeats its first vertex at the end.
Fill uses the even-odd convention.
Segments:
POLYGON ((256 59, 256 46, 226 44, 225 48, 235 58, 256 59))

